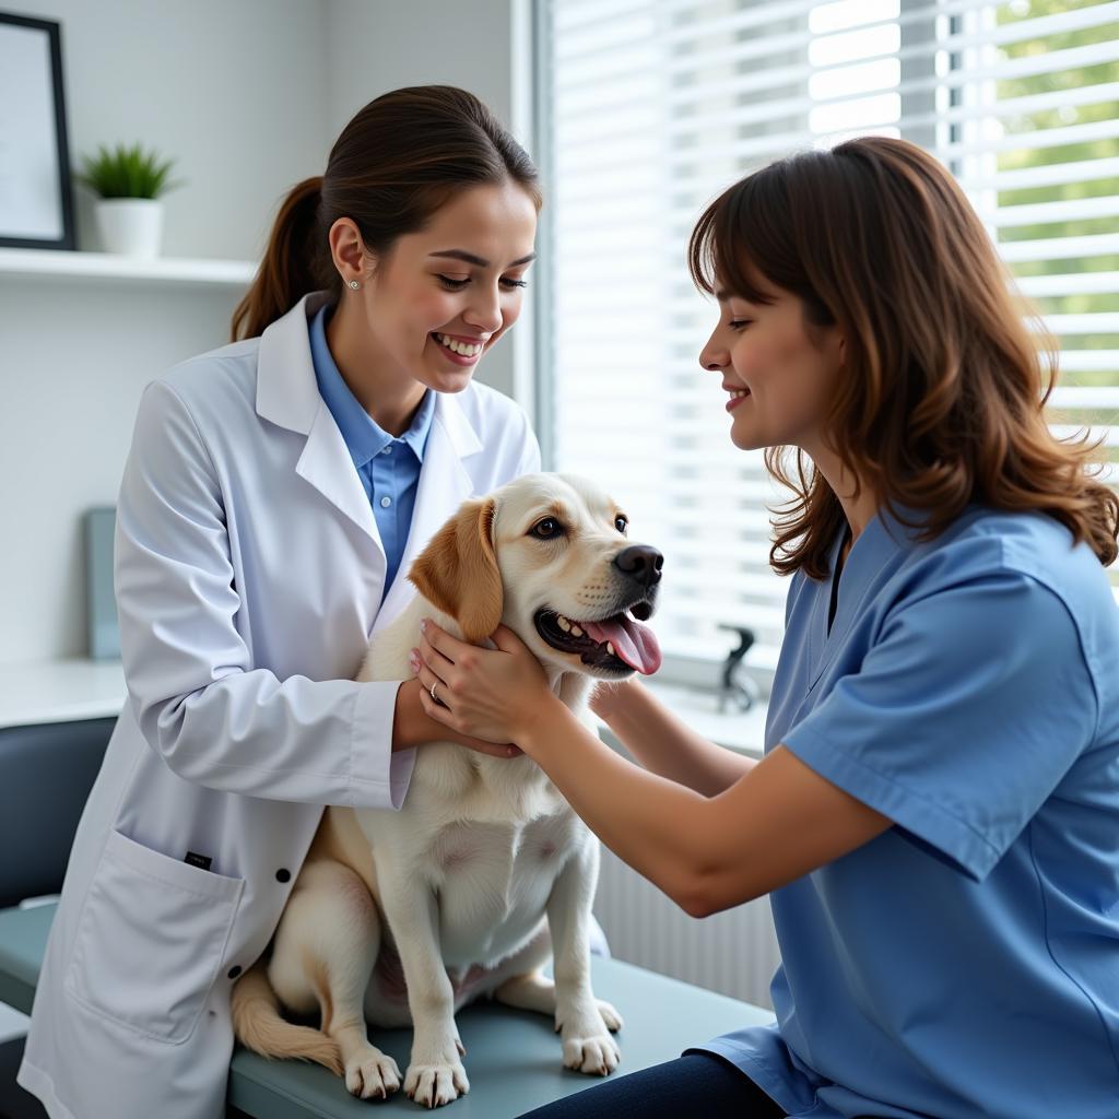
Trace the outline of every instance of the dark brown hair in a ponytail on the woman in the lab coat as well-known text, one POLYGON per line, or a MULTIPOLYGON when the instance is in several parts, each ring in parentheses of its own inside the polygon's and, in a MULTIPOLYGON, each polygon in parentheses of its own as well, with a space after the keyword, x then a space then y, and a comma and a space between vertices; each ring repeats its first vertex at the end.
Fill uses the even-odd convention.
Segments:
POLYGON ((269 247, 231 333, 254 338, 310 291, 341 297, 327 235, 350 218, 376 256, 417 233, 464 187, 513 181, 540 208, 533 161, 493 114, 449 85, 394 90, 342 129, 325 175, 304 179, 280 206, 269 247))

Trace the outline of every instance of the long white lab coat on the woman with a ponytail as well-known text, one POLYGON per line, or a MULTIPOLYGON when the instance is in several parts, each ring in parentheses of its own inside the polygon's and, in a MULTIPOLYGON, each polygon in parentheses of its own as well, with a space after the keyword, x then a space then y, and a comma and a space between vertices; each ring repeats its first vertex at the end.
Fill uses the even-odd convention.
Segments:
POLYGON ((441 394, 382 604, 376 521, 311 365, 323 300, 177 366, 140 404, 117 505, 129 700, 19 1072, 53 1119, 224 1115, 231 971, 271 939, 322 806, 399 807, 407 789, 414 754, 389 753, 398 685, 352 681, 370 636, 464 498, 539 469, 516 404, 441 394))

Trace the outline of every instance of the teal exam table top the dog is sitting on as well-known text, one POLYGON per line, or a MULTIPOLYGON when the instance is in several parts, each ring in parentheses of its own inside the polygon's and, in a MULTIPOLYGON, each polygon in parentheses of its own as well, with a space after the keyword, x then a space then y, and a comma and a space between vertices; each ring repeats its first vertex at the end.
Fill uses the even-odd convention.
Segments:
MULTIPOLYGON (((0 911, 0 1000, 30 1010, 54 905, 0 911)), ((768 1010, 679 982, 621 960, 592 959, 594 991, 624 1018, 618 1034, 622 1063, 614 1076, 679 1056, 730 1029, 771 1022, 768 1010)), ((457 1015, 470 1092, 448 1112, 452 1119, 513 1119, 523 1111, 601 1083, 563 1068, 558 1036, 549 1018, 486 1003, 457 1015)), ((412 1032, 374 1029, 370 1041, 391 1054, 403 1073, 412 1032)), ((318 1065, 265 1061, 238 1047, 229 1075, 229 1103, 261 1119, 369 1119, 416 1115, 397 1092, 384 1103, 355 1099, 342 1081, 318 1065)))

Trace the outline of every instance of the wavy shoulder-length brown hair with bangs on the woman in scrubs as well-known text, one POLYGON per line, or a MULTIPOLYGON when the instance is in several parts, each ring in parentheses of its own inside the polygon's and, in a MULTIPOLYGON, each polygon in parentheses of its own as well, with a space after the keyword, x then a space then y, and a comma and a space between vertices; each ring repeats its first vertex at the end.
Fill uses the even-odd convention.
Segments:
MULTIPOLYGON (((1101 563, 1116 558, 1119 496, 1088 468, 1096 445, 1087 433, 1059 440, 1045 421, 1054 344, 1042 332, 1040 349, 1031 337, 982 224, 921 148, 864 137, 772 163, 707 207, 688 261, 708 294, 717 282, 770 302, 760 274, 799 297, 809 337, 838 326, 830 442, 899 519, 908 523, 899 506, 921 511, 919 539, 974 501, 1050 514, 1101 563)), ((794 491, 777 510, 770 563, 821 579, 843 508, 799 449, 789 477, 787 450, 765 451, 794 491)))

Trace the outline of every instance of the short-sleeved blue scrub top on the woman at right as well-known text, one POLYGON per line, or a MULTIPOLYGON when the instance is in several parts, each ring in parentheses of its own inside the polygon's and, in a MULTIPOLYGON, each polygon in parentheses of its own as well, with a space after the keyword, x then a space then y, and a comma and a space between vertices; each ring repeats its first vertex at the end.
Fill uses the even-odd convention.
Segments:
POLYGON ((915 536, 871 521, 830 632, 793 576, 767 750, 895 825, 771 895, 777 1023, 703 1049, 792 1117, 1115 1119, 1119 608, 1050 517, 915 536))

